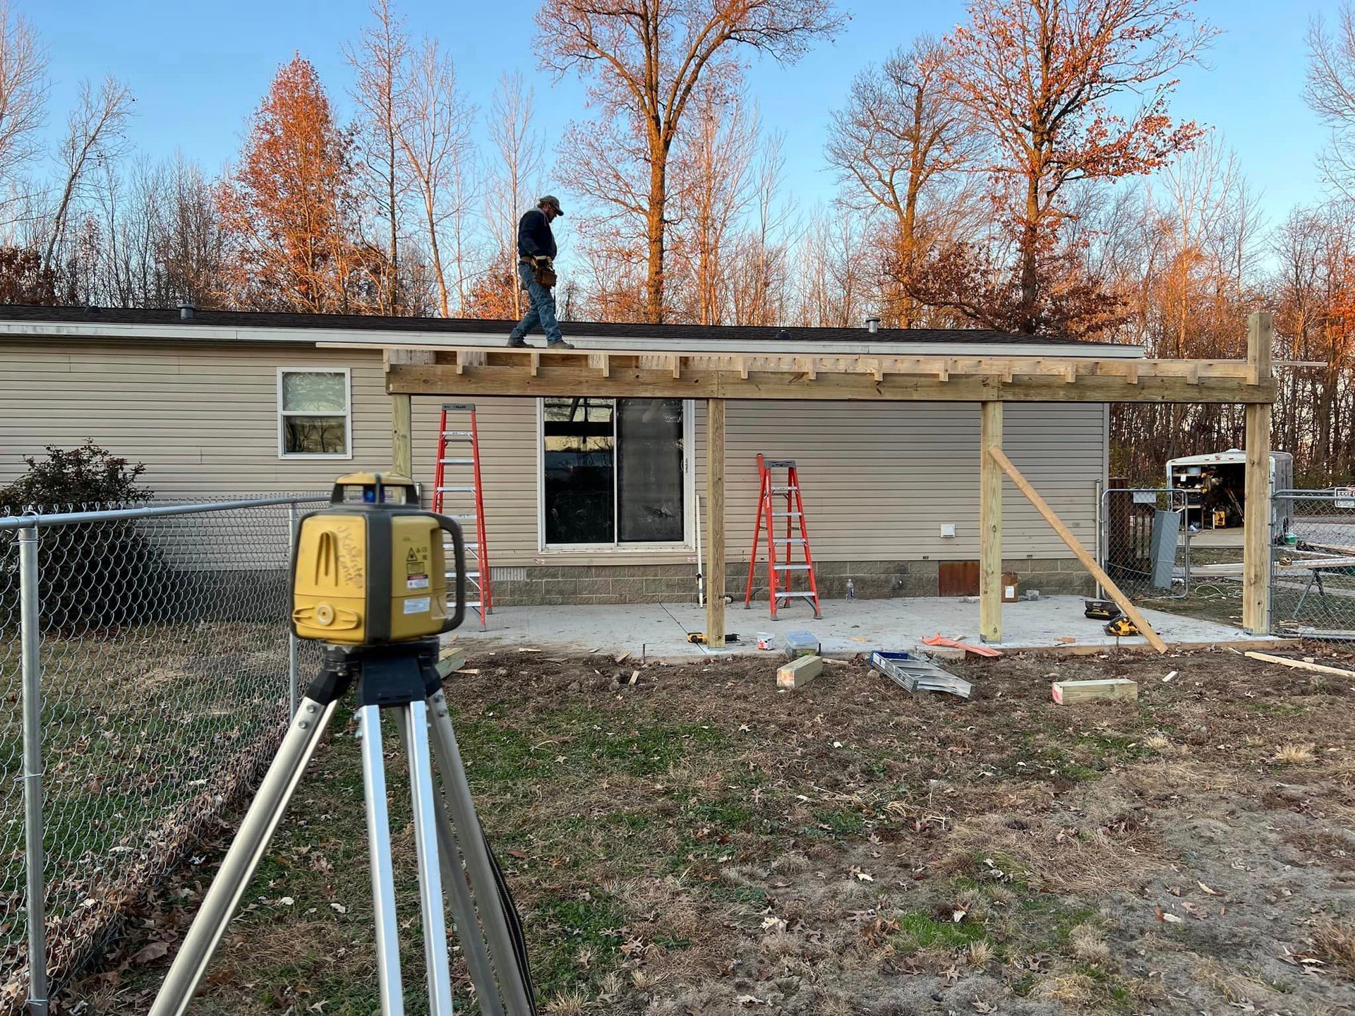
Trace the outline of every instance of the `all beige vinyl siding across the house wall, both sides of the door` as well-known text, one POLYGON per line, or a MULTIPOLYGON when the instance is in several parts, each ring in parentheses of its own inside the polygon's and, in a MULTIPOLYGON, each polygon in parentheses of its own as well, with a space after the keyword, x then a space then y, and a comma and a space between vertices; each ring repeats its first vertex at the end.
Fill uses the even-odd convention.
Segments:
MULTIPOLYGON (((431 489, 439 406, 413 400, 415 478, 431 489)), ((542 551, 537 404, 477 401, 485 513, 495 565, 684 564, 694 553, 542 551)), ((705 402, 695 404, 688 466, 703 496, 705 402)), ((1005 448, 1069 527, 1093 542, 1095 482, 1104 475, 1100 405, 1008 404, 1005 448)), ((305 345, 156 347, 0 343, 0 484, 43 446, 92 438, 145 462, 161 497, 328 489, 335 475, 390 465, 390 398, 381 356, 305 345), (348 367, 352 458, 278 458, 278 368, 348 367)), ((794 458, 821 561, 977 558, 978 406, 965 402, 728 402, 730 561, 747 561, 757 499, 756 455, 794 458), (943 539, 940 524, 955 523, 943 539)), ((1007 558, 1066 557, 1066 547, 1009 484, 1007 558)), ((695 505, 688 505, 695 512, 695 505)))

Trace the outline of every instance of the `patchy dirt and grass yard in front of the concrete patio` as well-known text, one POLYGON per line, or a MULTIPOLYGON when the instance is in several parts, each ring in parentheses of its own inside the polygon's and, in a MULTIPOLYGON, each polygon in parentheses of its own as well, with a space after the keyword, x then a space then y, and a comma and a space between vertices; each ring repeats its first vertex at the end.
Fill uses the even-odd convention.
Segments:
MULTIPOLYGON (((957 665, 962 702, 863 662, 776 692, 770 656, 469 669, 449 696, 546 1012, 1351 1011, 1340 679, 1228 652, 1015 657, 957 665), (1135 679, 1138 700, 1049 700, 1096 677, 1135 679)), ((371 1011, 341 723, 314 768, 196 1012, 371 1011)), ((405 797, 393 779, 397 863, 405 797)), ((66 1004, 144 1012, 167 958, 127 958, 178 941, 210 867, 66 1004)))

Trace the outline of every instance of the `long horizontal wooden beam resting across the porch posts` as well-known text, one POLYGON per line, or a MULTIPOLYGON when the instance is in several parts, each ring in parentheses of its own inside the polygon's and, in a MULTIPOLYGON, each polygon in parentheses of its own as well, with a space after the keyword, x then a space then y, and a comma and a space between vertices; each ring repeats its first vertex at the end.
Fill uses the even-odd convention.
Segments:
MULTIPOLYGON (((1125 360, 1104 370, 1054 373, 1045 360, 965 362, 936 360, 935 373, 896 374, 881 360, 873 368, 833 363, 833 358, 782 358, 793 368, 759 370, 752 359, 740 368, 732 358, 683 355, 680 377, 671 363, 652 364, 650 356, 610 354, 607 373, 589 366, 587 356, 539 354, 535 374, 530 355, 492 351, 488 362, 472 363, 459 354, 438 354, 436 364, 396 364, 386 371, 386 390, 432 396, 595 396, 600 398, 778 398, 822 401, 938 401, 938 402, 1274 402, 1274 379, 1252 385, 1248 378, 1211 373, 1205 367, 1195 382, 1188 370, 1152 370, 1125 360), (443 358, 455 363, 442 363, 443 358), (718 360, 729 360, 722 363, 718 360), (743 377, 747 370, 748 377, 743 377), (1028 370, 1028 373, 1026 373, 1028 370), (989 373, 982 373, 989 371, 989 373), (1137 381, 1135 381, 1137 378, 1137 381)), ((874 364, 873 364, 874 366, 874 364)), ((912 367, 912 364, 908 364, 912 367)))

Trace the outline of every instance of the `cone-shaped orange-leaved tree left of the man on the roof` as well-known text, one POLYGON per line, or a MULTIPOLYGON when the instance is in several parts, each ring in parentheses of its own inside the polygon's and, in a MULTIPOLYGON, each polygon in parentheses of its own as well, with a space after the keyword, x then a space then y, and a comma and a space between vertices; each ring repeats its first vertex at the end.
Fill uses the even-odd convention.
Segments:
POLYGON ((389 256, 354 240, 351 150, 316 69, 298 54, 279 68, 240 164, 217 190, 229 303, 309 313, 379 306, 389 256))

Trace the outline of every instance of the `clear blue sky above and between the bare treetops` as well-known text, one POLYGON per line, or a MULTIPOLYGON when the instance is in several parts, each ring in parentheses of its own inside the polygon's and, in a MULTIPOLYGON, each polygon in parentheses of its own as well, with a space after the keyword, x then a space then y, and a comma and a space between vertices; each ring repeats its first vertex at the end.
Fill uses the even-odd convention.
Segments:
MULTIPOLYGON (((14 1, 14 0, 12 0, 14 1)), ((114 73, 137 96, 130 134, 152 157, 182 149, 215 172, 238 148, 243 125, 276 66, 299 50, 316 64, 341 114, 350 70, 340 46, 367 22, 367 0, 16 0, 50 49, 53 130, 81 77, 114 73)), ((538 122, 554 133, 583 112, 583 87, 537 69, 533 0, 402 0, 411 35, 436 35, 457 60, 463 88, 481 108, 503 70, 520 70, 537 91, 538 122)), ((1213 125, 1237 150, 1274 222, 1297 202, 1321 198, 1313 156, 1322 129, 1302 102, 1304 33, 1337 0, 1201 0, 1199 14, 1224 30, 1209 69, 1183 75, 1179 115, 1213 125)), ((787 194, 827 198, 822 141, 829 114, 856 70, 917 33, 943 34, 961 19, 959 0, 902 4, 856 0, 852 20, 794 66, 763 61, 749 85, 764 125, 786 134, 787 194)), ((568 207, 569 194, 560 192, 568 207)))

